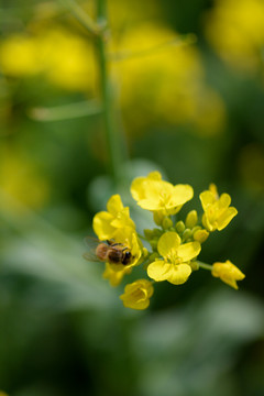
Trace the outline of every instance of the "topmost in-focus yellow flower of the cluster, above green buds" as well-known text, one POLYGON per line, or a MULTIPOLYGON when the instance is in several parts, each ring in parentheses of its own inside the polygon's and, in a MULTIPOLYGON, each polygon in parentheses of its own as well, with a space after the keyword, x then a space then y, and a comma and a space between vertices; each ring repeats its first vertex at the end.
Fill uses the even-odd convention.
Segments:
POLYGON ((152 172, 132 182, 131 194, 141 208, 167 216, 177 213, 193 198, 194 190, 189 185, 173 186, 162 180, 158 172, 152 172))

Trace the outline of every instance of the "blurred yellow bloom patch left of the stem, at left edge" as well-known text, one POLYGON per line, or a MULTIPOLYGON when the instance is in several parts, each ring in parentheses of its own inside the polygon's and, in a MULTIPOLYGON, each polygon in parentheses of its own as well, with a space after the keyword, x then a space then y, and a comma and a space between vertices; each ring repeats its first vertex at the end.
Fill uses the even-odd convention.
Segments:
POLYGON ((92 44, 61 26, 4 38, 0 44, 0 67, 13 77, 43 74, 53 85, 68 90, 97 89, 92 44))

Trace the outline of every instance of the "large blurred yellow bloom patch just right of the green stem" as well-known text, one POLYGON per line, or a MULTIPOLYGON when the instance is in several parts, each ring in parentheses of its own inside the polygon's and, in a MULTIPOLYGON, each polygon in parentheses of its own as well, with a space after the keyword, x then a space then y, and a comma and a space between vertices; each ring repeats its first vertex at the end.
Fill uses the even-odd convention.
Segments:
POLYGON ((204 134, 221 130, 224 106, 205 82, 195 45, 185 44, 168 28, 141 24, 124 31, 113 48, 124 55, 114 62, 113 73, 128 128, 158 119, 187 123, 204 134))

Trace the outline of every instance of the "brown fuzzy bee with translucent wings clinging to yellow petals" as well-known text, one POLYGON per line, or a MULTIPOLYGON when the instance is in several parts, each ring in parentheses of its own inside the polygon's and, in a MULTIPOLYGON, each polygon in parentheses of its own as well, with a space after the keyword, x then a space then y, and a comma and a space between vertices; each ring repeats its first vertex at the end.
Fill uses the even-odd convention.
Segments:
POLYGON ((86 244, 89 246, 89 252, 82 256, 88 261, 108 262, 110 264, 131 264, 134 256, 128 246, 114 240, 107 240, 106 242, 86 237, 86 244))

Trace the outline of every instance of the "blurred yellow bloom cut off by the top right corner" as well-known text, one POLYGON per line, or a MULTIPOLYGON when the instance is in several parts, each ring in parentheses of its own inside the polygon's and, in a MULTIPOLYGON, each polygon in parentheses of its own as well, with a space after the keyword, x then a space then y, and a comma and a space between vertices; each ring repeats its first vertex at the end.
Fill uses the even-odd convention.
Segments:
POLYGON ((224 61, 249 72, 263 65, 263 0, 216 0, 207 16, 207 37, 224 61))

